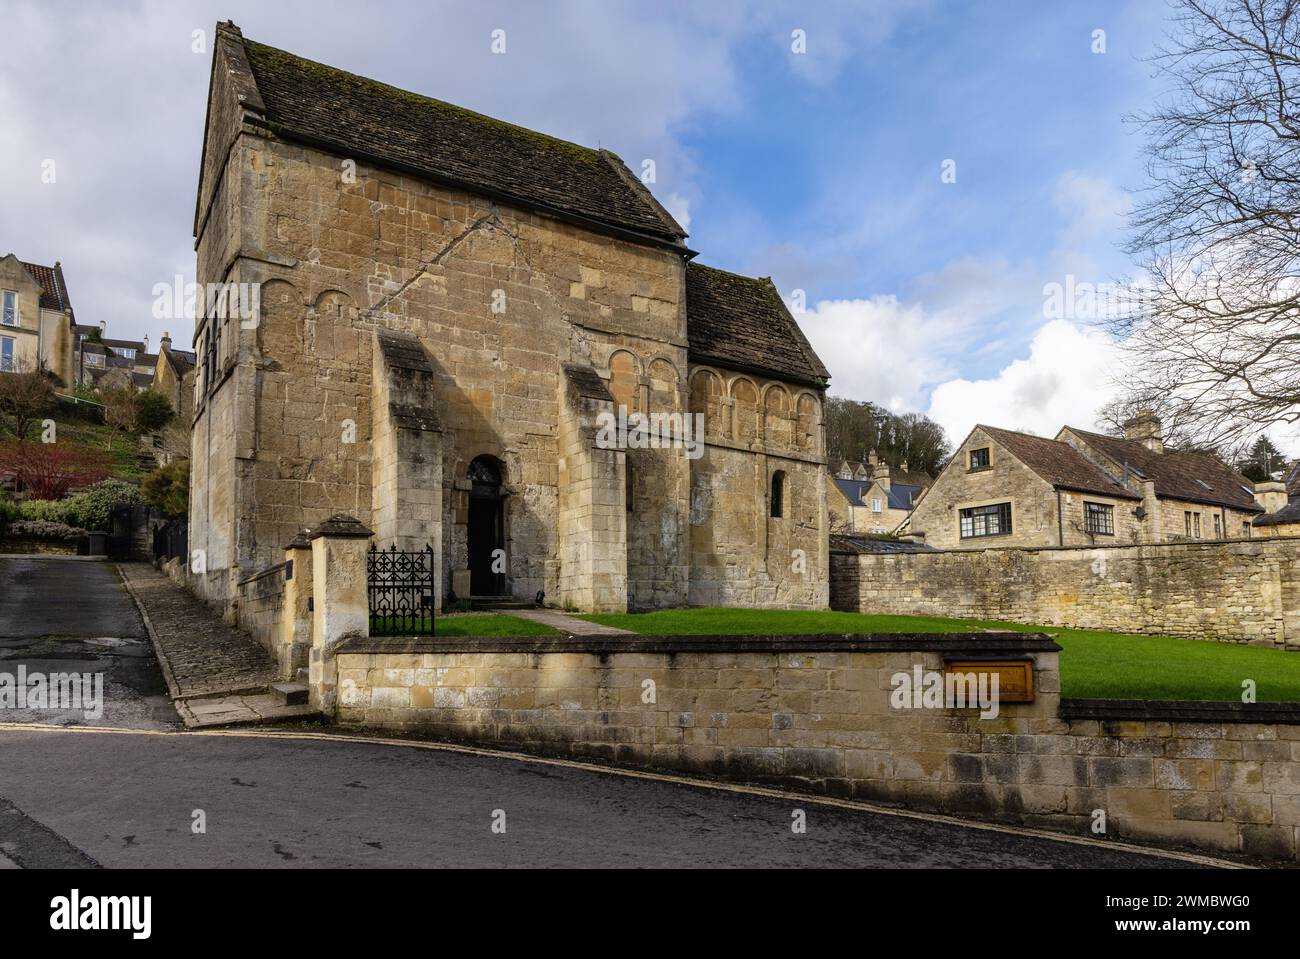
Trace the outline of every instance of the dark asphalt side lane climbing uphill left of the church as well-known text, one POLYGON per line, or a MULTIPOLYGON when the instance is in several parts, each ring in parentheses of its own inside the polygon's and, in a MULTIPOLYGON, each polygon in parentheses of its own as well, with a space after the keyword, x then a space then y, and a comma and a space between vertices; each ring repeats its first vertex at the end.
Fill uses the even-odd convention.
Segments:
POLYGON ((0 556, 0 673, 17 677, 25 667, 27 676, 79 673, 99 676, 103 684, 101 715, 0 707, 0 722, 179 725, 144 622, 116 567, 0 556))

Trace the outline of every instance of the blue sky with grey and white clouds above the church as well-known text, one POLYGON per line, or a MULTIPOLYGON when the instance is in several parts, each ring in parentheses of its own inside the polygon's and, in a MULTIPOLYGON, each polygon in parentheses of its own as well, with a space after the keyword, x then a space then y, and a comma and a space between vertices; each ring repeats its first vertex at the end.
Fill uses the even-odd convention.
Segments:
MULTIPOLYGON (((832 395, 1050 435, 1098 425, 1115 344, 1045 308, 1128 275, 1161 0, 0 0, 0 255, 64 265, 79 322, 164 329, 194 277, 213 27, 602 146, 698 261, 770 275, 832 395), (504 52, 493 52, 494 31, 504 52), (1100 32, 1098 32, 1100 31, 1100 32), (51 164, 52 161, 52 164, 51 164), (52 181, 52 182, 49 182, 52 181)), ((497 44, 499 48, 499 44, 497 44)), ((1300 442, 1278 438, 1300 454, 1300 442)))

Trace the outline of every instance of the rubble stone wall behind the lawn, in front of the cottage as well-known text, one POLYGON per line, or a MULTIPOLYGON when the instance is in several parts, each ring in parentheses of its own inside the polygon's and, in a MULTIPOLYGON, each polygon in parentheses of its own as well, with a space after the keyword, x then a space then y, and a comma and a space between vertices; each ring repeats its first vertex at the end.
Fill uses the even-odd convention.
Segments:
POLYGON ((1300 650, 1300 539, 837 551, 831 607, 1300 650))

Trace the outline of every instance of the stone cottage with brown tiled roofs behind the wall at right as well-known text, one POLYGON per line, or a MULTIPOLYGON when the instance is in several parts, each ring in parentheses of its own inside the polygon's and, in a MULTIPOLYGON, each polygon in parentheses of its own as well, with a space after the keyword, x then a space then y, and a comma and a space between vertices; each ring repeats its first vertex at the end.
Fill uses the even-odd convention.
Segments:
POLYGON ((909 534, 944 550, 1242 539, 1262 512, 1245 477, 1213 456, 1165 450, 1160 420, 1140 413, 1122 438, 976 426, 909 534))

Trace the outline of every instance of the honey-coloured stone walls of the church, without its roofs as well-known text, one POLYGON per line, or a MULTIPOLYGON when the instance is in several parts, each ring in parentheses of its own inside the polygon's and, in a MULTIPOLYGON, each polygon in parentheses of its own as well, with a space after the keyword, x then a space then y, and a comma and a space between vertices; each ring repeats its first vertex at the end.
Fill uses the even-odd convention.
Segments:
POLYGON ((213 86, 198 281, 255 285, 260 313, 248 322, 217 311, 195 338, 191 543, 208 569, 200 591, 228 599, 235 582, 280 563, 303 528, 337 512, 395 528, 382 503, 374 508, 387 495, 376 483, 390 486, 393 474, 376 456, 391 457, 394 438, 372 435, 374 334, 386 329, 417 338, 430 360, 442 521, 429 524, 429 541, 447 581, 468 561, 469 464, 489 456, 502 473, 515 596, 545 590, 556 602, 595 602, 618 582, 618 603, 629 608, 826 606, 818 390, 745 377, 736 398, 714 403, 714 413, 727 411, 725 439, 701 460, 681 448, 612 457, 582 446, 584 457, 603 464, 582 480, 592 504, 619 504, 618 518, 584 512, 562 482, 569 444, 588 443, 562 442, 566 365, 598 374, 615 412, 689 412, 684 251, 354 168, 239 127, 238 113, 217 103, 243 95, 256 107, 239 68, 218 69, 213 86), (226 153, 231 131, 239 135, 226 153), (789 477, 789 508, 768 521, 774 469, 789 477), (715 518, 693 521, 701 489, 715 518), (589 542, 623 537, 623 580, 562 542, 575 522, 592 526, 589 542), (584 568, 586 582, 573 582, 566 563, 584 568), (603 585, 592 581, 598 573, 608 574, 603 585))

